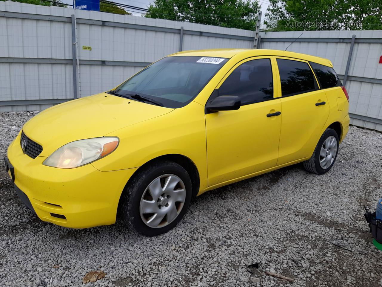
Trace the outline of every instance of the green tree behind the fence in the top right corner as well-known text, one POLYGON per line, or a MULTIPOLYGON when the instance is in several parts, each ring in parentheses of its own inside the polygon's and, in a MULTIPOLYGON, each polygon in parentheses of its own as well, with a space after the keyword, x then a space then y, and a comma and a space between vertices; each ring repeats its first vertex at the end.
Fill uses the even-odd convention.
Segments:
POLYGON ((382 0, 269 0, 271 31, 382 29, 382 0))

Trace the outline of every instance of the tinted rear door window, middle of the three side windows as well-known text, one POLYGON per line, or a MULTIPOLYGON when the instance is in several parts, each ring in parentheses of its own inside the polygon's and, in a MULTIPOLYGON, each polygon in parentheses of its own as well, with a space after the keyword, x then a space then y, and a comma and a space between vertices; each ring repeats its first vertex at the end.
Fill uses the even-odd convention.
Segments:
POLYGON ((307 63, 277 59, 277 66, 280 72, 282 96, 301 94, 316 89, 316 80, 307 63))

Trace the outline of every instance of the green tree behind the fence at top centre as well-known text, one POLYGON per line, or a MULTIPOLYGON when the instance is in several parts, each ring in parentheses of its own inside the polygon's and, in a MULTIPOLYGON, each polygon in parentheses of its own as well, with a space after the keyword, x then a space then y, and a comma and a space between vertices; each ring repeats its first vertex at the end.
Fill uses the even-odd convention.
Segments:
POLYGON ((257 0, 155 0, 150 5, 148 18, 254 30, 257 0))

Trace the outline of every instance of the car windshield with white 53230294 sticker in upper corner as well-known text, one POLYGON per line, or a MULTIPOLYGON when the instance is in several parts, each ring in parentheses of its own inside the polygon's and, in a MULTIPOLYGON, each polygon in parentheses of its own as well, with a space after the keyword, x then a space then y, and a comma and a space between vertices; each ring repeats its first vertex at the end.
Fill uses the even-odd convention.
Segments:
POLYGON ((115 93, 140 95, 168 108, 181 108, 199 94, 227 60, 201 56, 165 57, 129 78, 115 89, 115 93))

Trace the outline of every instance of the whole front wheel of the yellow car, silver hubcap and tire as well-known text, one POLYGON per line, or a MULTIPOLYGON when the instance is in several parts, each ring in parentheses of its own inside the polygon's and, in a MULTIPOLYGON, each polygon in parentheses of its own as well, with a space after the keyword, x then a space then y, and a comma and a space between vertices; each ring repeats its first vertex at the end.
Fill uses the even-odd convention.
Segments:
POLYGON ((121 216, 137 232, 155 236, 167 232, 185 215, 191 201, 191 179, 175 162, 144 167, 126 185, 121 216))

